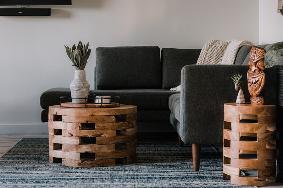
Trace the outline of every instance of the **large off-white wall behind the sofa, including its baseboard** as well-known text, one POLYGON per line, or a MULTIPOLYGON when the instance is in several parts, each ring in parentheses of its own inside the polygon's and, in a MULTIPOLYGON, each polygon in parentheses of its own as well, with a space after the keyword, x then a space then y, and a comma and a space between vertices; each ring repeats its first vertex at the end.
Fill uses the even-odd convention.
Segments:
POLYGON ((91 89, 99 46, 202 48, 210 39, 258 44, 258 0, 72 3, 49 6, 50 17, 0 17, 0 133, 46 133, 39 98, 73 80, 63 46, 70 40, 93 46, 86 65, 91 89))

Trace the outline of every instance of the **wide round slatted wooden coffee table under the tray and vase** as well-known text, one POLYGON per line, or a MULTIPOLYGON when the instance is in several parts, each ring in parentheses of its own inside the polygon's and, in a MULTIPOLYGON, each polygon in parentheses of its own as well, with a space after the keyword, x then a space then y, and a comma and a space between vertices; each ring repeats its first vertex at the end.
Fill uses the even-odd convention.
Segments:
POLYGON ((115 166, 136 161, 137 107, 49 107, 49 162, 70 167, 115 166))

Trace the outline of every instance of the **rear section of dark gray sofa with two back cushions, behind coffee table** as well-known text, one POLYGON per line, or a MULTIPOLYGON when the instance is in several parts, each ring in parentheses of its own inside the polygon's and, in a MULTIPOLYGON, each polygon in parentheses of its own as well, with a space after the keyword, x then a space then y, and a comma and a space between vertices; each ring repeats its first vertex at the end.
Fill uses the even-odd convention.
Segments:
MULTIPOLYGON (((96 49, 94 88, 100 95, 120 96, 121 104, 138 107, 138 122, 169 123, 169 97, 180 91, 181 69, 196 64, 201 50, 157 46, 103 47, 96 49)), ((70 81, 71 82, 71 81, 70 81)), ((42 93, 42 122, 48 122, 48 107, 60 104, 69 88, 52 88, 42 93)))

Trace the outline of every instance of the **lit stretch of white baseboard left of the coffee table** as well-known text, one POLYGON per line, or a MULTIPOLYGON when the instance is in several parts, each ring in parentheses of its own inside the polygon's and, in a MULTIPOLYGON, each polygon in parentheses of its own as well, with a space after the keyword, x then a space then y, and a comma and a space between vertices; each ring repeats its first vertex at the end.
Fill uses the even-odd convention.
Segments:
POLYGON ((0 125, 0 134, 48 134, 48 124, 0 125))

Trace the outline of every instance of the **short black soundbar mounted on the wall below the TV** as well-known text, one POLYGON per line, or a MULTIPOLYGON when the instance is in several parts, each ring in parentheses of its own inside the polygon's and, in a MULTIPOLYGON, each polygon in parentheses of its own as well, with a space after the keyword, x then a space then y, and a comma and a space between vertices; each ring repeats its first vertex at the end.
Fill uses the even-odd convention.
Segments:
POLYGON ((0 16, 50 16, 51 8, 0 8, 0 16))

